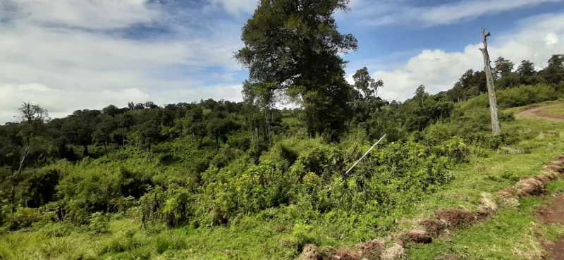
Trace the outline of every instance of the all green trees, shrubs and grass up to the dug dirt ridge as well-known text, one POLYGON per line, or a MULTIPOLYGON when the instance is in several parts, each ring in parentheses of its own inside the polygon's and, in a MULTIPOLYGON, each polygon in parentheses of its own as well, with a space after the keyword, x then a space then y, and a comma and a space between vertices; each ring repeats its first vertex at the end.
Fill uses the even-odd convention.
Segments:
MULTIPOLYGON (((260 1, 243 28, 244 102, 130 103, 53 120, 24 103, 0 126, 0 258, 292 259, 305 244, 351 245, 422 212, 470 209, 564 151, 561 123, 508 110, 503 134, 489 136, 481 72, 404 102, 377 97, 384 82, 366 68, 349 85, 338 53, 356 39, 333 20, 348 1, 304 3, 260 1), (276 109, 280 97, 301 108, 276 109)), ((515 72, 498 58, 499 107, 560 99, 563 57, 515 72)), ((501 217, 527 221, 517 215, 501 217)), ((434 246, 412 255, 442 252, 434 246)), ((496 254, 472 255, 482 256, 496 254)))

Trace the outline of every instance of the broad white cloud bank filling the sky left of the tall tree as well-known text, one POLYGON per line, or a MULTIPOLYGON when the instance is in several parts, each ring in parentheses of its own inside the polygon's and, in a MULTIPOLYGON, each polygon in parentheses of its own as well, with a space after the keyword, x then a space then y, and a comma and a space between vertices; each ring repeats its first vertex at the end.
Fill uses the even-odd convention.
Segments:
POLYGON ((0 123, 22 101, 63 117, 128 101, 240 99, 217 83, 240 70, 231 58, 240 25, 169 24, 171 32, 144 39, 121 31, 162 22, 163 9, 145 0, 0 1, 0 123))

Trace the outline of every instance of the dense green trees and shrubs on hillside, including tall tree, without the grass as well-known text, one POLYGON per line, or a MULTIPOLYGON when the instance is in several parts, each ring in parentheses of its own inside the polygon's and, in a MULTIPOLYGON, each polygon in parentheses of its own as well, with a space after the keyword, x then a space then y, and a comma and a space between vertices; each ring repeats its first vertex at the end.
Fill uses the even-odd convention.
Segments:
MULTIPOLYGON (((30 102, 13 111, 15 121, 0 126, 0 233, 65 223, 103 234, 117 218, 145 229, 219 228, 253 217, 293 223, 298 252, 313 221, 349 223, 357 230, 346 236, 369 239, 395 223, 391 213, 452 182, 449 168, 470 154, 519 142, 490 135, 483 71, 467 70, 446 92, 421 85, 411 99, 387 101, 378 96, 386 82, 367 68, 354 85, 345 80, 340 54, 357 41, 336 30, 333 13, 348 1, 266 2, 234 54, 250 72, 242 102, 131 102, 54 119, 30 102), (280 109, 284 101, 299 106, 280 109)), ((494 61, 500 109, 564 97, 564 54, 546 58, 538 70, 494 61)), ((502 128, 515 120, 500 118, 502 128)))

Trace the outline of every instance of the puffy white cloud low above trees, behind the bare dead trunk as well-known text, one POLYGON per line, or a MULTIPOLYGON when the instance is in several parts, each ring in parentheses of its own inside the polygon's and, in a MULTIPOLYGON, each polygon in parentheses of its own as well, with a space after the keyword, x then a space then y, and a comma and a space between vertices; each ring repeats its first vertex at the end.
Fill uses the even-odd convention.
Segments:
MULTIPOLYGON (((564 45, 556 44, 564 37, 564 14, 535 16, 520 23, 519 32, 490 37, 489 54, 492 59, 504 56, 515 63, 529 60, 539 68, 552 54, 563 54, 564 45)), ((479 48, 482 44, 470 44, 462 52, 446 52, 440 49, 424 50, 407 61, 397 70, 378 70, 374 78, 384 80, 381 96, 384 99, 405 100, 413 96, 419 85, 425 85, 427 92, 437 93, 448 90, 462 73, 472 68, 483 70, 484 62, 479 48)))

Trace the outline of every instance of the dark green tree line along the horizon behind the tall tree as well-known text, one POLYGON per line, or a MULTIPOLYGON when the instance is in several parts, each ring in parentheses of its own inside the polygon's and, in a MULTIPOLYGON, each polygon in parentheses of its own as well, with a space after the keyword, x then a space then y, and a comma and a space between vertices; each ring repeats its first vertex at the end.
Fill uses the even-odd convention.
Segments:
MULTIPOLYGON (((514 63, 503 56, 494 64, 496 89, 539 83, 556 85, 564 81, 564 54, 553 55, 548 66, 538 71, 529 61, 522 61, 514 70, 514 63)), ((487 92, 484 71, 474 72, 472 69, 446 92, 431 95, 421 85, 411 99, 403 102, 378 97, 384 82, 371 78, 367 68, 357 70, 353 80, 355 83, 348 85, 348 95, 345 96, 350 97, 345 103, 349 112, 339 119, 343 125, 338 128, 317 125, 315 129, 319 134, 335 140, 343 134, 339 131, 360 127, 371 138, 388 134, 391 140, 399 140, 410 132, 424 130, 428 125, 448 118, 455 103, 487 92), (345 129, 339 130, 341 127, 345 129)), ((276 109, 274 104, 266 105, 262 101, 264 97, 256 91, 259 89, 245 87, 243 102, 207 99, 164 106, 152 101, 130 102, 123 108, 109 105, 100 110, 77 110, 65 118, 52 120, 41 106, 24 102, 15 116, 16 122, 0 126, 0 166, 22 171, 26 166, 40 167, 56 159, 77 161, 93 156, 89 150, 92 146, 104 147, 104 154, 107 154, 108 147, 135 145, 145 149, 150 160, 151 147, 159 142, 190 137, 190 142, 202 144, 208 137, 218 149, 232 132, 245 132, 251 142, 262 140, 271 146, 272 135, 284 132, 284 117, 297 118, 308 130, 309 137, 314 137, 310 127, 321 122, 310 121, 309 105, 303 109, 276 109)), ((315 113, 325 114, 317 110, 315 113)))

